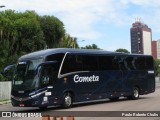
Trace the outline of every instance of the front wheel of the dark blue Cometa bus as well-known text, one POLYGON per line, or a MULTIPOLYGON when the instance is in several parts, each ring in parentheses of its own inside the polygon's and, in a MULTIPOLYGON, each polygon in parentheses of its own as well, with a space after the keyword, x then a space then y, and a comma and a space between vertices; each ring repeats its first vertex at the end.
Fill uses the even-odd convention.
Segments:
POLYGON ((63 107, 70 108, 72 106, 72 95, 70 93, 64 94, 63 107))

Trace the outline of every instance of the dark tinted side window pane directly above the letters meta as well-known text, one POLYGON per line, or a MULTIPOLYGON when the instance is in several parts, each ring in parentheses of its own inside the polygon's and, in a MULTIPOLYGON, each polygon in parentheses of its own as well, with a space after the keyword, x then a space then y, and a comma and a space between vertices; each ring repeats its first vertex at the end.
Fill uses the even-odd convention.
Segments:
POLYGON ((83 55, 83 71, 98 71, 98 57, 83 55))

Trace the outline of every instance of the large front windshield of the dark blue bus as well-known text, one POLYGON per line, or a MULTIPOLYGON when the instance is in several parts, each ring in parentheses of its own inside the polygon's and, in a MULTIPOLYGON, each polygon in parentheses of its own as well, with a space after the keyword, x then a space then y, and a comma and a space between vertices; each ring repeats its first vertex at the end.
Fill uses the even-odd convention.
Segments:
POLYGON ((18 62, 12 88, 14 90, 33 90, 38 87, 38 76, 35 75, 35 68, 42 62, 43 59, 18 62))

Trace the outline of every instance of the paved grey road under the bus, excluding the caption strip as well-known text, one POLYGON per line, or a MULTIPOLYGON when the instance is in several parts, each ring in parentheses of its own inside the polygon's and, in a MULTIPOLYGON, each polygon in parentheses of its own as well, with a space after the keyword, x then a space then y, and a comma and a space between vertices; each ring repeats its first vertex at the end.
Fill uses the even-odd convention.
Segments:
MULTIPOLYGON (((117 115, 121 116, 123 113, 128 113, 125 111, 160 111, 160 88, 157 87, 156 92, 148 95, 140 96, 139 100, 127 100, 125 98, 121 98, 119 101, 111 102, 109 100, 103 102, 95 102, 90 104, 83 105, 75 105, 70 109, 62 109, 60 107, 51 107, 48 110, 40 111, 37 108, 17 108, 12 107, 11 104, 0 105, 0 111, 18 111, 18 112, 40 112, 45 115, 54 115, 57 111, 61 111, 62 113, 67 111, 67 114, 81 114, 80 111, 86 111, 85 114, 89 117, 76 117, 75 120, 137 120, 137 117, 91 117, 93 116, 107 116, 107 115, 117 115), (74 112, 73 112, 74 111, 74 112), (78 111, 78 112, 75 112, 78 111), (87 112, 88 111, 88 112, 87 112), (89 112, 89 111, 97 111, 97 112, 89 112), (108 111, 108 112, 100 112, 100 111, 108 111), (110 111, 115 111, 110 113, 110 111), (120 111, 120 112, 116 112, 120 111), (91 115, 90 115, 91 114, 91 115)), ((148 114, 148 112, 146 112, 148 114)), ((160 112, 155 112, 160 116, 160 112)), ((82 112, 83 114, 83 112, 82 112)), ((133 112, 131 112, 133 114, 133 112)), ((154 114, 154 115, 156 115, 154 114)), ((79 115, 80 116, 80 115, 79 115)), ((1 118, 2 119, 2 118, 1 118)), ((8 118, 3 118, 4 120, 8 120, 8 118)), ((2 120, 3 120, 2 119, 2 120)), ((13 120, 23 119, 30 120, 31 118, 10 118, 13 120)), ((160 120, 160 117, 140 117, 140 120, 160 120)), ((41 120, 41 118, 34 118, 34 120, 41 120)))

